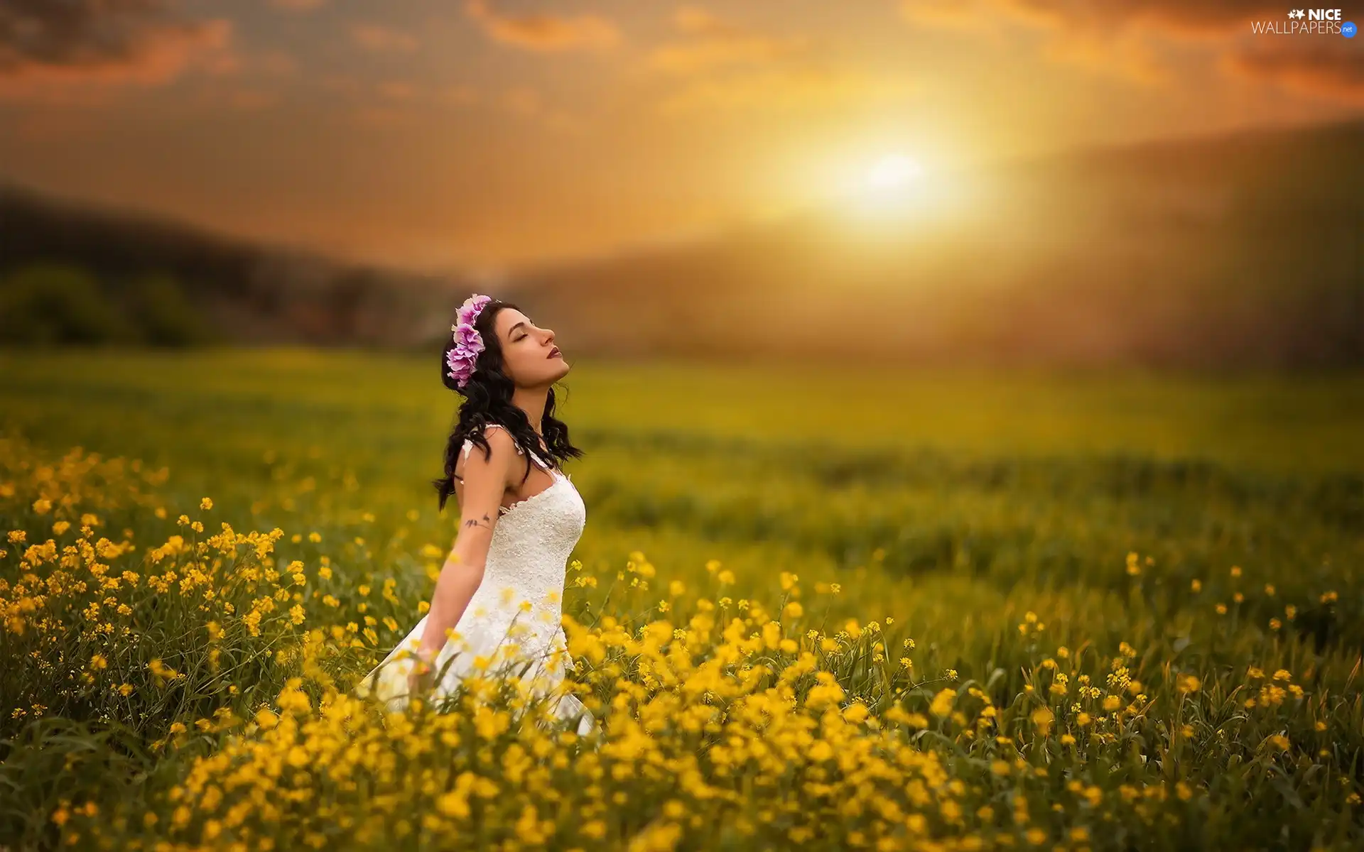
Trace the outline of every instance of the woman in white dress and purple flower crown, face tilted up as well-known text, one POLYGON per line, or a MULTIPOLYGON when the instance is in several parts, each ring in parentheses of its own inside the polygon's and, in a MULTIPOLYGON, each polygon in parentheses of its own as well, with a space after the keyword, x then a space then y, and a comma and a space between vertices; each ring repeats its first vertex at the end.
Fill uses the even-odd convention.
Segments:
MULTIPOLYGON (((587 521, 582 498, 559 472, 582 455, 554 417, 552 384, 569 364, 554 331, 488 296, 469 297, 450 330, 441 374, 465 401, 445 476, 434 483, 441 508, 451 493, 460 502, 458 537, 430 612, 356 687, 394 709, 419 690, 447 695, 471 672, 520 675, 548 694, 567 661, 563 579, 587 521)), ((563 694, 555 712, 578 718, 578 733, 596 727, 574 695, 563 694)))

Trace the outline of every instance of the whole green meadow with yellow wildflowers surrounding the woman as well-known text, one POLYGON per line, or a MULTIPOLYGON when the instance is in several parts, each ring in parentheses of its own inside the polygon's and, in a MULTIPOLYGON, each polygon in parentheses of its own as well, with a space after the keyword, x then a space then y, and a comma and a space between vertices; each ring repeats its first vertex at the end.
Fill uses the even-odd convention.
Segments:
POLYGON ((573 363, 600 742, 349 694, 436 359, 0 354, 0 848, 1364 844, 1364 375, 573 363))

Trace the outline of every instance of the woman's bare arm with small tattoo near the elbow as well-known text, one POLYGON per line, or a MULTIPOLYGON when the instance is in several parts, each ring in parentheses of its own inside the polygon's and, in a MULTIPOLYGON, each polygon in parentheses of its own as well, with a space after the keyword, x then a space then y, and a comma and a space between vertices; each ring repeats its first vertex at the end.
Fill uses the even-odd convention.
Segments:
POLYGON ((503 429, 490 429, 487 433, 491 454, 475 447, 464 459, 464 498, 460 506, 460 532, 454 549, 446 558, 445 567, 435 582, 431 594, 431 612, 427 613, 426 628, 417 656, 431 663, 446 643, 446 631, 451 630, 464 615, 465 608, 479 583, 483 582, 483 568, 492 543, 492 528, 498 522, 498 507, 506 489, 516 444, 503 429))

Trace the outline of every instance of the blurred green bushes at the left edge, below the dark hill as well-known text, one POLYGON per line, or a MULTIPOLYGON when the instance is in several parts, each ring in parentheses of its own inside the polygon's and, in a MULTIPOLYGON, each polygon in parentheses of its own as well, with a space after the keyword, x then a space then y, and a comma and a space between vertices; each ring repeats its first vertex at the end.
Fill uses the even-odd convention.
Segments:
POLYGON ((0 345, 175 348, 222 339, 165 273, 100 279, 57 262, 0 273, 0 345))

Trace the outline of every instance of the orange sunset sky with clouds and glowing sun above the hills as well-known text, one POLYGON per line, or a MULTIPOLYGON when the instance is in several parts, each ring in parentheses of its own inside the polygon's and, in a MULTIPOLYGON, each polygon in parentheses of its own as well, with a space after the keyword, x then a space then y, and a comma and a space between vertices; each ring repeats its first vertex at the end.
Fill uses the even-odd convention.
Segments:
POLYGON ((817 203, 888 162, 1364 115, 1364 37, 1252 34, 1288 11, 0 0, 0 181, 346 258, 507 269, 817 203))

